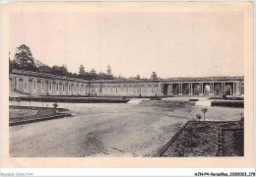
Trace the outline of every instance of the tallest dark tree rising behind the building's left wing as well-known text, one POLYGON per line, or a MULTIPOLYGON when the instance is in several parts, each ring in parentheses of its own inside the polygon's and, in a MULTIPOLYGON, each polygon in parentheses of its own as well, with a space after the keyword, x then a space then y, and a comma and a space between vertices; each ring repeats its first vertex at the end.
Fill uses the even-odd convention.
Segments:
POLYGON ((32 57, 32 51, 30 47, 25 44, 17 47, 17 51, 14 56, 14 62, 16 62, 17 65, 19 65, 19 67, 23 70, 36 71, 36 66, 34 65, 34 59, 32 57))

